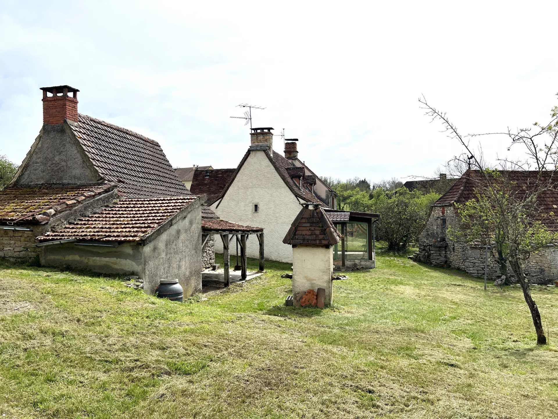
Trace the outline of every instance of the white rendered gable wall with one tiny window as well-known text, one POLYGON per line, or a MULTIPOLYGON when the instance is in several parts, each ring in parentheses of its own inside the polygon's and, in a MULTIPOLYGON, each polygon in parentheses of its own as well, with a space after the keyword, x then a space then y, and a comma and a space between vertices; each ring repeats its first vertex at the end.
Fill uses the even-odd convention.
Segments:
MULTIPOLYGON (((302 207, 265 153, 250 153, 227 194, 211 208, 223 220, 263 227, 266 259, 291 263, 291 246, 284 244, 283 239, 302 207), (258 204, 259 212, 253 211, 254 203, 258 204)), ((247 255, 258 258, 258 239, 255 235, 248 237, 247 255)), ((215 237, 215 251, 223 253, 220 237, 215 237)), ((234 240, 230 242, 230 251, 235 252, 234 240)))

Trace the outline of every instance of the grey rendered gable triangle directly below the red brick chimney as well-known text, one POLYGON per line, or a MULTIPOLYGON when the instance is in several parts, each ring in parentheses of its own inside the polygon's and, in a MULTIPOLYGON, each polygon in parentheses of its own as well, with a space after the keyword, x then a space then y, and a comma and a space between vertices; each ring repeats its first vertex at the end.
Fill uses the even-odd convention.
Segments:
POLYGON ((66 123, 44 125, 41 132, 16 175, 15 185, 90 184, 101 180, 66 123))

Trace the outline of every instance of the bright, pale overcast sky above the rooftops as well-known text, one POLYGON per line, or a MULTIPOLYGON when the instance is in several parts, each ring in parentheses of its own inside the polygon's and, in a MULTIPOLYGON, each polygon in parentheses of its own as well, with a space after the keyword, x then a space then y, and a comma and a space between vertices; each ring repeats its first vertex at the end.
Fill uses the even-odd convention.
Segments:
POLYGON ((461 148, 421 94, 463 134, 549 119, 557 3, 0 1, 0 154, 23 160, 39 88, 69 84, 80 113, 157 140, 174 166, 235 167, 249 130, 229 116, 250 103, 318 175, 428 177, 461 148))

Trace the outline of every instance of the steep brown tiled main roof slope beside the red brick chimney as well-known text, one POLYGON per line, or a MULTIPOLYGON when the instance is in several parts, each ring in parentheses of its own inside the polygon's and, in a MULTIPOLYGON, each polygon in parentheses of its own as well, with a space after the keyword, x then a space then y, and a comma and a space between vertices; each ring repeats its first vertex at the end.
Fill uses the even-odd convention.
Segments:
POLYGON ((81 114, 70 127, 99 174, 118 182, 123 196, 191 195, 157 141, 81 114))

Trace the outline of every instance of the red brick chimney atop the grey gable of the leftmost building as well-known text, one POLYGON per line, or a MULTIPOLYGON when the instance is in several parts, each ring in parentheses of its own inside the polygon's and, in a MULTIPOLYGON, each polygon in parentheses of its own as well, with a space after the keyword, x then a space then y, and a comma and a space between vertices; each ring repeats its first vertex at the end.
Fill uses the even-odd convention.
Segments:
POLYGON ((56 125, 64 123, 64 120, 78 121, 78 89, 64 85, 41 87, 41 90, 43 123, 56 125))

